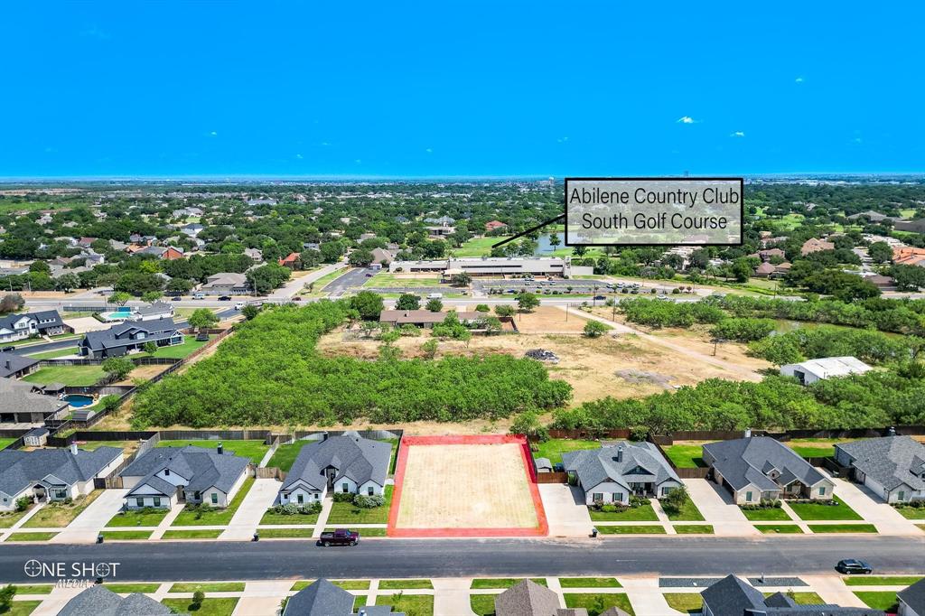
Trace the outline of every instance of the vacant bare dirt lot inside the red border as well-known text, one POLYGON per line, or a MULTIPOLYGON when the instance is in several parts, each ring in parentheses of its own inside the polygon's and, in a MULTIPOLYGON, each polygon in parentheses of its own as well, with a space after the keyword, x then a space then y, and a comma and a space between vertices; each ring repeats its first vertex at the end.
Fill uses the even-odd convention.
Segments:
POLYGON ((533 528, 521 446, 411 445, 396 528, 533 528))

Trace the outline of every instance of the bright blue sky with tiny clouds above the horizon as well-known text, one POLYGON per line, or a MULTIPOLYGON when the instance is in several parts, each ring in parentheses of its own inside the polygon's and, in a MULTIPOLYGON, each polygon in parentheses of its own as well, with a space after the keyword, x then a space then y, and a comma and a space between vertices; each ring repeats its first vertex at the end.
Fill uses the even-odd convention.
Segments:
POLYGON ((925 3, 325 4, 6 3, 0 177, 925 171, 925 3))

